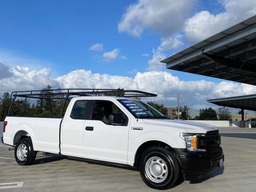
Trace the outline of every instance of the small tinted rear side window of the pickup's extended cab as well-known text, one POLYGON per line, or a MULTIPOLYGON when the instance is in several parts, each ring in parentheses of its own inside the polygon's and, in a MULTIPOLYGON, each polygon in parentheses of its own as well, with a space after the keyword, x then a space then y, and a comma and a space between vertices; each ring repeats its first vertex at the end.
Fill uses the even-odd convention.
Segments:
POLYGON ((73 119, 85 119, 85 107, 88 100, 78 100, 75 102, 70 117, 73 119))

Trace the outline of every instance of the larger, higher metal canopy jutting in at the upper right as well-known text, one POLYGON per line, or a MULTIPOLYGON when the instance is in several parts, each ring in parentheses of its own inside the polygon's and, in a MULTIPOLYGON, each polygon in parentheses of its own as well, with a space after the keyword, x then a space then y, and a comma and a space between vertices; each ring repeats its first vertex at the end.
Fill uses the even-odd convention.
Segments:
POLYGON ((161 62, 167 69, 256 85, 256 15, 161 62))

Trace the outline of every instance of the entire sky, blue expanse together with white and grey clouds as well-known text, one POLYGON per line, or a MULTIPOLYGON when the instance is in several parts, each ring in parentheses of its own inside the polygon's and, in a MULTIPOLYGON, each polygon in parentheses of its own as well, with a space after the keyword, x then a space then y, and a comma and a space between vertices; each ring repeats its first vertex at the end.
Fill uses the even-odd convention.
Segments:
MULTIPOLYGON (((13 81, 9 78, 9 84, 0 78, 0 92, 44 87, 48 82, 53 87, 80 86, 73 82, 83 76, 78 76, 77 70, 83 70, 85 74, 91 70, 87 78, 96 78, 95 74, 99 73, 102 80, 102 75, 106 74, 108 80, 104 81, 108 84, 93 84, 85 79, 87 83, 81 85, 83 88, 129 87, 128 81, 112 83, 110 79, 113 76, 129 77, 134 84, 141 76, 146 79, 145 76, 156 75, 153 71, 162 77, 164 73, 171 75, 169 77, 173 81, 169 83, 177 84, 176 87, 167 83, 170 88, 166 85, 160 91, 156 90, 163 95, 156 101, 166 106, 176 103, 177 92, 181 95, 183 92, 184 104, 191 102, 185 96, 186 88, 182 84, 198 83, 198 87, 211 84, 213 87, 210 89, 190 90, 195 98, 198 98, 196 93, 207 90, 200 96, 202 100, 210 97, 209 94, 232 96, 237 90, 241 94, 254 93, 251 87, 230 82, 224 85, 220 79, 166 70, 159 64, 160 60, 173 53, 254 15, 255 2, 246 2, 248 4, 241 4, 238 0, 1 1, 0 61, 3 68, 13 74, 13 81), (202 34, 197 33, 199 29, 202 34), (103 44, 100 51, 89 50, 97 43, 103 44), (63 75, 71 76, 69 82, 60 77, 63 75), (45 79, 42 80, 42 76, 45 79), (200 83, 200 80, 205 82, 200 83), (36 84, 37 81, 41 83, 36 84), (23 82, 22 86, 20 82, 23 82), (236 87, 236 90, 224 93, 227 85, 236 87), (212 93, 213 89, 217 90, 216 93, 212 93)), ((152 82, 157 86, 161 81, 154 78, 152 82)), ((141 83, 139 86, 154 92, 148 88, 150 84, 141 83)), ((196 102, 194 107, 200 108, 200 100, 196 102)))

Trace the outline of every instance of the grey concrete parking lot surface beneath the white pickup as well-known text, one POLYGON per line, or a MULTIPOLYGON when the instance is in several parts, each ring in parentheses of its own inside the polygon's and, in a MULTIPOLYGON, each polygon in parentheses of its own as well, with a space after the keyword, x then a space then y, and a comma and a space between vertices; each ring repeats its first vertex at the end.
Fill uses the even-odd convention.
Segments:
MULTIPOLYGON (((179 178, 167 191, 256 191, 256 129, 219 128, 225 154, 222 168, 207 178, 190 182, 179 178)), ((15 163, 14 151, 0 143, 1 191, 156 191, 148 188, 140 172, 131 168, 68 159, 54 154, 37 153, 30 166, 15 163), (1 188, 19 183, 19 188, 1 188)))

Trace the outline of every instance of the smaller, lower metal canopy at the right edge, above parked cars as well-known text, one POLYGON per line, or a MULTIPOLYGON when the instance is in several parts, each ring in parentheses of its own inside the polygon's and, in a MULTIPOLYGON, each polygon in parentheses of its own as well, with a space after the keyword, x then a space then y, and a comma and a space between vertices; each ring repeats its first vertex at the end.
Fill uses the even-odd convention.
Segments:
POLYGON ((209 99, 208 103, 213 103, 222 107, 232 107, 256 111, 256 94, 236 97, 226 97, 220 99, 209 99))

